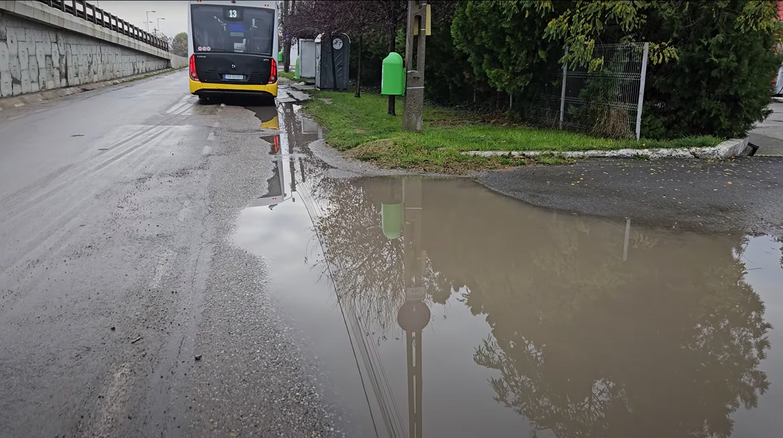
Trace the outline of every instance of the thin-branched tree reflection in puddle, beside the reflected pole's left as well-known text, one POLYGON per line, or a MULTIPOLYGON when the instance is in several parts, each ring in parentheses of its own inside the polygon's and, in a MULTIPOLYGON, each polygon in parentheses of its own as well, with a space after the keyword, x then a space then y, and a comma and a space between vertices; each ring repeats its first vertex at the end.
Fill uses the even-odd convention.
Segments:
MULTIPOLYGON (((328 199, 316 229, 326 246, 332 281, 345 307, 377 330, 378 340, 388 330, 399 330, 395 318, 405 302, 405 241, 389 239, 381 227, 381 203, 401 196, 400 181, 378 178, 363 181, 324 179, 317 193, 328 199)), ((442 275, 425 260, 422 281, 428 293, 438 295, 442 275)))

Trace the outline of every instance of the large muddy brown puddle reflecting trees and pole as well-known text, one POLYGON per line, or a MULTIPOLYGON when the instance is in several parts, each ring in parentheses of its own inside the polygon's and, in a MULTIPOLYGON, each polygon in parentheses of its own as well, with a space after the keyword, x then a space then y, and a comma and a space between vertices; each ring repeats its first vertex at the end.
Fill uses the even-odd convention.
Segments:
POLYGON ((269 266, 347 436, 783 430, 780 240, 561 214, 464 180, 328 178, 296 110, 262 124, 281 129, 272 178, 235 242, 269 266))

